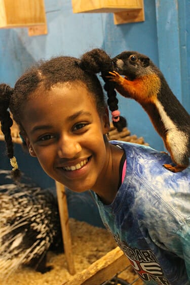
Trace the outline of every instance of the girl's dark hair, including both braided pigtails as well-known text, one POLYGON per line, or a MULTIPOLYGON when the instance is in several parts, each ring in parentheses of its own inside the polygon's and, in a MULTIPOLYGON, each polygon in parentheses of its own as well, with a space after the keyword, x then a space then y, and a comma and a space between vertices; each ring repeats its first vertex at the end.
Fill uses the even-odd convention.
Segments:
MULTIPOLYGON (((22 127, 22 107, 28 97, 40 87, 41 84, 49 90, 57 83, 78 81, 85 84, 93 95, 99 113, 105 111, 105 99, 102 84, 96 75, 100 73, 105 84, 104 89, 107 93, 107 104, 110 111, 118 110, 118 99, 115 91, 115 83, 107 79, 109 71, 113 70, 113 63, 109 55, 102 49, 95 48, 84 53, 80 59, 71 56, 58 56, 48 61, 39 61, 28 69, 16 82, 15 87, 11 88, 7 84, 0 84, 0 121, 2 131, 5 135, 8 157, 13 165, 13 175, 17 179, 19 170, 14 157, 14 148, 11 138, 10 128, 13 121, 10 117, 11 111, 13 119, 18 124, 20 134, 24 135, 22 127)), ((127 123, 125 118, 117 118, 118 122, 113 121, 113 125, 118 131, 122 131, 127 123)))

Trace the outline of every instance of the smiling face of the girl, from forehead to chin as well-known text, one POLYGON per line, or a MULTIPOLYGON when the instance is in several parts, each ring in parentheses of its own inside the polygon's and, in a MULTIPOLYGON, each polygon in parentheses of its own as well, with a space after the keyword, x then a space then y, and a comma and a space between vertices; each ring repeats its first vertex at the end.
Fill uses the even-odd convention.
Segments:
POLYGON ((30 155, 50 177, 75 192, 103 182, 109 119, 106 112, 99 116, 85 85, 40 87, 23 107, 22 126, 30 155))

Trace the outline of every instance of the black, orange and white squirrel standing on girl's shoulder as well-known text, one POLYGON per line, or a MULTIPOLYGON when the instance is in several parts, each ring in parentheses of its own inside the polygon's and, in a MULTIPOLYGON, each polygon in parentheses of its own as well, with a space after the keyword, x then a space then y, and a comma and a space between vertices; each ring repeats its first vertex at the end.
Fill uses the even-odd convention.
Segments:
POLYGON ((174 173, 188 167, 190 116, 160 69, 148 56, 136 51, 123 51, 112 61, 115 70, 110 71, 107 78, 115 82, 115 89, 122 96, 136 100, 147 112, 175 163, 163 166, 174 173))

